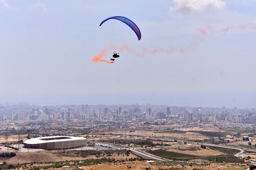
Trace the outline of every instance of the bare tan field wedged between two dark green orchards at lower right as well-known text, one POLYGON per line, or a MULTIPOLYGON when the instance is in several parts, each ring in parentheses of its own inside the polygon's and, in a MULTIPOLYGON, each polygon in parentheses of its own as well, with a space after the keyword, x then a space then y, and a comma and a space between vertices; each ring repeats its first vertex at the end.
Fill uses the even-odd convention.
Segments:
POLYGON ((180 150, 170 149, 167 151, 184 153, 184 154, 189 154, 189 155, 196 155, 196 156, 216 156, 216 155, 224 154, 222 152, 211 150, 211 149, 202 149, 202 150, 198 150, 198 151, 180 151, 180 150))

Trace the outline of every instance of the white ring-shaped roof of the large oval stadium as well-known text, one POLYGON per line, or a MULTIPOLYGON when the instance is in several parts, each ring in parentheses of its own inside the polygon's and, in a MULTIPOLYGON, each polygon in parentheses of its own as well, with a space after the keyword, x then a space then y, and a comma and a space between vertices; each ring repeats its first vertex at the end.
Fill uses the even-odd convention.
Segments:
POLYGON ((73 136, 46 136, 46 137, 28 139, 24 141, 24 143, 34 145, 34 144, 48 143, 48 142, 62 142, 62 141, 85 140, 85 139, 86 138, 84 137, 73 137, 73 136), (66 139, 58 139, 58 138, 66 138, 66 139))

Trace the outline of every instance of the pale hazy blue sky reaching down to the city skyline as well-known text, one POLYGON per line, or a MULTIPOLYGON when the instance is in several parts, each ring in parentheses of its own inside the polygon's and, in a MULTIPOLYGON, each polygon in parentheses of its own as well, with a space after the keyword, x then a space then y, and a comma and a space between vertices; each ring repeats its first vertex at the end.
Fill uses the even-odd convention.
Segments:
POLYGON ((0 104, 256 107, 255 9, 256 0, 0 0, 0 104), (99 27, 115 15, 141 40, 117 20, 99 27), (109 61, 111 45, 114 63, 92 61, 101 50, 109 61))

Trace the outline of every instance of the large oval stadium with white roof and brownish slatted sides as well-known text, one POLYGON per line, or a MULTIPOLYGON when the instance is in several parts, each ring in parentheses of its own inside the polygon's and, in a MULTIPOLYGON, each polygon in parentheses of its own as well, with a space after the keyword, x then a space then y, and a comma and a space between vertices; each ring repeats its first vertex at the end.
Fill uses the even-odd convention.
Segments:
POLYGON ((73 136, 47 136, 26 140, 23 142, 27 148, 43 148, 43 149, 69 149, 81 147, 85 143, 84 137, 73 136))

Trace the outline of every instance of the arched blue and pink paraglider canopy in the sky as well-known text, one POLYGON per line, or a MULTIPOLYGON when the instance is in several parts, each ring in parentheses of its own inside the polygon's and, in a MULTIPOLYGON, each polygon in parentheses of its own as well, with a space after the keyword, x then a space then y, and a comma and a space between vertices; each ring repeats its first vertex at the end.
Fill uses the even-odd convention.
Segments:
MULTIPOLYGON (((141 33, 140 33, 140 29, 139 27, 134 23, 132 22, 130 19, 126 18, 126 17, 123 17, 123 16, 113 16, 113 17, 109 17, 109 18, 106 18, 104 19, 101 23, 100 23, 100 26, 107 20, 109 19, 116 19, 116 20, 119 20, 119 21, 122 21, 124 22, 127 26, 129 26, 134 32, 135 34, 137 35, 138 37, 138 40, 141 39, 141 33)), ((113 56, 114 57, 114 56, 113 56)), ((118 56, 119 57, 119 56, 118 56)))

